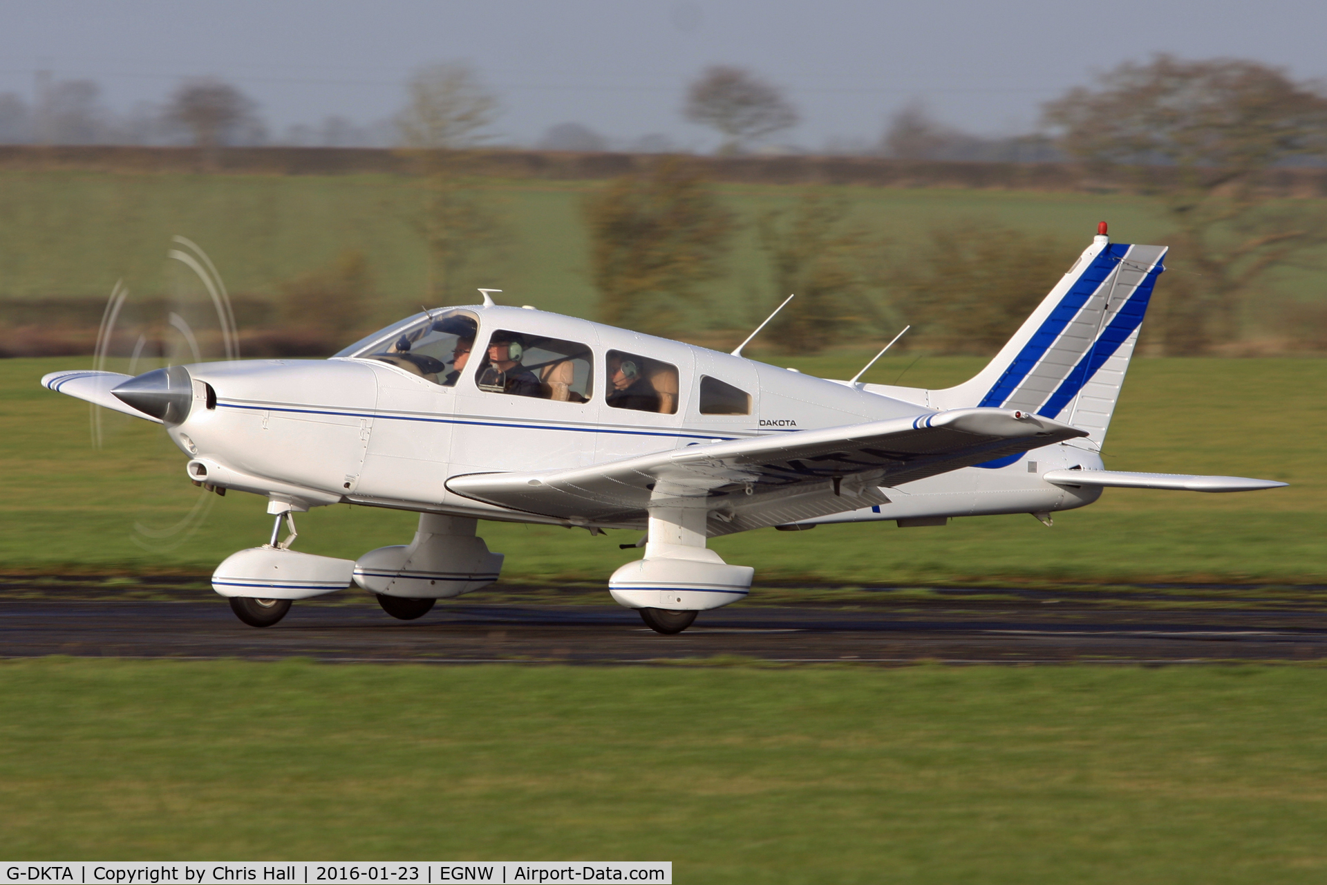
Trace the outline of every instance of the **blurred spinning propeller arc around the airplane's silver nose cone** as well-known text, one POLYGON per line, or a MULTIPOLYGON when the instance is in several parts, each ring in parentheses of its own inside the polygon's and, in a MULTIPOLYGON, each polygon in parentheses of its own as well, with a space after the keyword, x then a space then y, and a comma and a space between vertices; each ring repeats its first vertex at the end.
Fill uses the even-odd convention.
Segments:
MULTIPOLYGON (((207 253, 171 238, 162 295, 115 283, 97 333, 93 368, 141 375, 154 369, 239 358, 235 312, 207 253)), ((131 483, 130 540, 151 552, 184 544, 207 519, 211 492, 183 482, 180 451, 157 425, 90 406, 92 443, 131 483)))

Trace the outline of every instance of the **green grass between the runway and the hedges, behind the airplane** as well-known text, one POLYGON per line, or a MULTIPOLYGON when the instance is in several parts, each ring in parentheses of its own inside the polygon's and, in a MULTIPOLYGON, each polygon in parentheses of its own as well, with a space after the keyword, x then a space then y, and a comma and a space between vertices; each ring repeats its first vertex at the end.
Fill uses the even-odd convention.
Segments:
MULTIPOLYGON (((783 360, 847 377, 864 354, 783 360)), ((882 361, 871 379, 941 386, 971 374, 970 358, 882 361)), ((89 443, 89 407, 38 386, 42 373, 81 368, 69 358, 0 361, 0 438, 7 499, 0 563, 60 573, 210 573, 227 555, 267 537, 261 499, 203 495, 183 476, 183 455, 153 425, 123 418, 106 448, 89 443), (195 502, 211 507, 192 535, 154 540, 195 502), (146 548, 142 545, 146 544, 146 548)), ((987 581, 1222 581, 1320 584, 1327 576, 1324 360, 1136 360, 1107 442, 1117 470, 1265 476, 1290 488, 1242 495, 1107 490, 1047 529, 1030 516, 954 520, 945 528, 892 523, 762 529, 714 541, 760 581, 953 584, 987 581)), ((118 417, 117 417, 118 418, 118 417)), ((300 517, 299 549, 354 557, 406 543, 409 513, 326 507, 300 517)), ((506 552, 504 579, 601 582, 636 551, 636 536, 486 523, 506 552)))

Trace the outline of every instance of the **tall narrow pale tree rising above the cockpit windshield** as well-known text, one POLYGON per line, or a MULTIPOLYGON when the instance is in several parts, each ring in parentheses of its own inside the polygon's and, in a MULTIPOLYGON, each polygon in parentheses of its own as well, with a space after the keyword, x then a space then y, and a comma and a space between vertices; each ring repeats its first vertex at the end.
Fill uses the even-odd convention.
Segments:
POLYGON ((498 100, 462 64, 419 70, 406 96, 397 129, 423 183, 415 227, 429 251, 429 297, 445 304, 463 269, 506 236, 502 219, 466 180, 466 161, 484 141, 498 100))

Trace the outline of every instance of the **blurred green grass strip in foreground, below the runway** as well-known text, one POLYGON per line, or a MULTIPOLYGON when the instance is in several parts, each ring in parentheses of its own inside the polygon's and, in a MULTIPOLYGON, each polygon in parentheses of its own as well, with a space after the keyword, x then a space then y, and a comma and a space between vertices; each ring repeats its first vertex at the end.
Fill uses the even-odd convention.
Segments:
POLYGON ((4 858, 1320 882, 1327 671, 0 663, 4 858))

